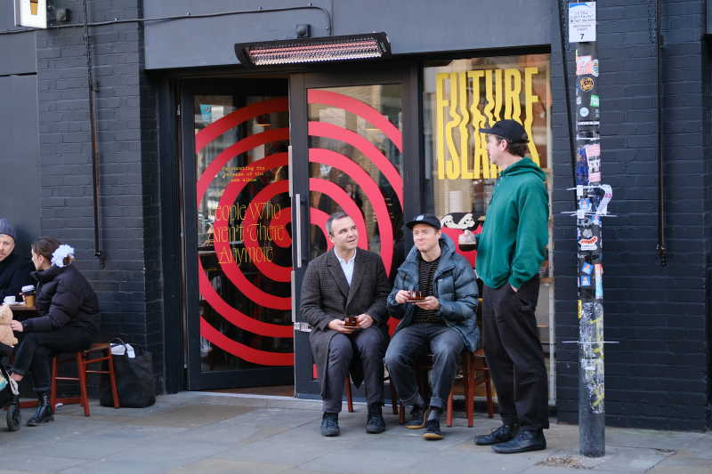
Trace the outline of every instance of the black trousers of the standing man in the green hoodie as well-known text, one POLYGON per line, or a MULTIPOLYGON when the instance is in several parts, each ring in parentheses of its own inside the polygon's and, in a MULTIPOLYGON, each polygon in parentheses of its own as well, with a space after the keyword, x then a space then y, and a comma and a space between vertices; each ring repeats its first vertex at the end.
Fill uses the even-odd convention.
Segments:
POLYGON ((514 293, 506 283, 485 285, 482 295, 484 352, 497 389, 499 413, 522 430, 549 427, 548 383, 537 330, 539 278, 514 293))

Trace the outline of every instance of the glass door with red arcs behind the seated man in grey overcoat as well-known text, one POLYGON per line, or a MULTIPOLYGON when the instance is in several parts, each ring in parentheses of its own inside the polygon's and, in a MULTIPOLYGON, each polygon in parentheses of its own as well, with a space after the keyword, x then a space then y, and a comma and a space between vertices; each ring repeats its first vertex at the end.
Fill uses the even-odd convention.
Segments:
MULTIPOLYGON (((416 168, 407 163, 404 146, 404 123, 415 113, 406 107, 408 79, 401 74, 305 75, 293 77, 290 91, 293 203, 299 203, 293 217, 302 236, 295 249, 295 287, 301 286, 308 262, 331 249, 325 224, 337 211, 352 216, 360 248, 380 254, 392 277, 404 258, 404 210, 417 207, 404 187, 416 168)), ((409 192, 415 195, 416 189, 409 192)), ((299 323, 297 310, 295 317, 299 323)), ((314 396, 320 382, 303 332, 307 328, 297 327, 296 391, 314 396)))

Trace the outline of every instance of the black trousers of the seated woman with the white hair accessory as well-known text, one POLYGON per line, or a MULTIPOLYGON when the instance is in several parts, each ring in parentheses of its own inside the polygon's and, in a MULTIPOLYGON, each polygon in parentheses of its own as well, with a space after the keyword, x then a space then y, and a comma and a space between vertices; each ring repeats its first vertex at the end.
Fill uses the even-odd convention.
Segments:
POLYGON ((79 327, 64 326, 46 333, 22 333, 12 372, 25 375, 31 371, 34 390, 49 391, 53 356, 89 349, 92 342, 93 334, 79 327))

